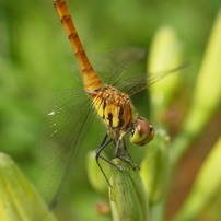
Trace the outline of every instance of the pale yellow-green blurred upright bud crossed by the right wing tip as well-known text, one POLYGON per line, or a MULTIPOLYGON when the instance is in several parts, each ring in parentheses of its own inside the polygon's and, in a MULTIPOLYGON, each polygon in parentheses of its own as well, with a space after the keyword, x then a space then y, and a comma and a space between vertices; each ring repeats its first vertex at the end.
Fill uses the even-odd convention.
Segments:
MULTIPOLYGON (((182 65, 182 44, 174 30, 170 26, 159 28, 152 40, 148 61, 148 73, 160 74, 173 70, 182 65)), ((152 85, 151 103, 153 108, 162 114, 171 102, 174 91, 178 86, 179 74, 171 74, 152 85)))

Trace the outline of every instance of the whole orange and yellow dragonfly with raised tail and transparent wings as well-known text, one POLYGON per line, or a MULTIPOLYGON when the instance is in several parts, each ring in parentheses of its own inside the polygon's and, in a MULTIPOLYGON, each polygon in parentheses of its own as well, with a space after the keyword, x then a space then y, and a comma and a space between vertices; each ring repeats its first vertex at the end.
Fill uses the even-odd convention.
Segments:
POLYGON ((138 168, 127 151, 125 136, 130 136, 132 144, 144 146, 153 139, 155 129, 147 118, 138 116, 130 96, 181 69, 178 67, 148 80, 147 77, 135 77, 119 84, 123 70, 130 66, 129 60, 132 58, 135 63, 143 56, 140 50, 132 48, 129 50, 130 55, 121 59, 119 70, 113 75, 107 75, 109 83, 103 82, 85 54, 66 0, 53 0, 53 2, 80 66, 84 90, 68 90, 65 95, 63 93, 58 95, 51 102, 47 115, 43 131, 44 144, 40 146, 39 188, 47 189, 44 195, 50 208, 54 208, 59 199, 71 165, 95 116, 101 118, 106 128, 95 160, 107 183, 108 178, 100 160, 116 166, 102 155, 102 151, 109 143, 115 146, 116 158, 128 162, 133 170, 138 168))

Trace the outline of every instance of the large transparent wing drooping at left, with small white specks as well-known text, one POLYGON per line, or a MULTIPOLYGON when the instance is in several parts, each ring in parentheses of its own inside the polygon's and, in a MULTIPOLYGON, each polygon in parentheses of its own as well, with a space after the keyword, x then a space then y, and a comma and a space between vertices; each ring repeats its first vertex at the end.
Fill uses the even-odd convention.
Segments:
POLYGON ((67 90, 51 102, 39 155, 39 189, 53 207, 69 175, 94 116, 92 101, 80 90, 67 90))

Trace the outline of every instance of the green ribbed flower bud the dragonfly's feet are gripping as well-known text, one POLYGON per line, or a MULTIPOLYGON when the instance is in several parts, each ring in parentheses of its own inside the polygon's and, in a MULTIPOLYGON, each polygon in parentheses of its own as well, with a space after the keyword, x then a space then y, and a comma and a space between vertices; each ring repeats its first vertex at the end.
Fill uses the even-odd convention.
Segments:
POLYGON ((119 159, 112 161, 109 201, 114 221, 148 221, 148 197, 139 173, 119 159))

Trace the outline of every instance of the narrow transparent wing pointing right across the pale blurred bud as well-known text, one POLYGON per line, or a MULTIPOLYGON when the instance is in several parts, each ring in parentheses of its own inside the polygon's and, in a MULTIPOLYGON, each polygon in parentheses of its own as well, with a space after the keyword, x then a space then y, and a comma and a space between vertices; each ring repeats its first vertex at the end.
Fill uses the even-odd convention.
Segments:
POLYGON ((143 75, 137 75, 130 79, 127 79, 125 81, 119 81, 116 83, 116 88, 130 96, 135 95, 136 93, 146 90, 150 85, 156 83, 161 79, 165 78, 166 75, 170 75, 171 73, 174 73, 176 71, 179 71, 184 68, 186 68, 189 65, 189 62, 185 62, 181 65, 179 67, 176 67, 172 70, 161 72, 158 74, 151 74, 149 78, 147 78, 147 74, 143 75))

